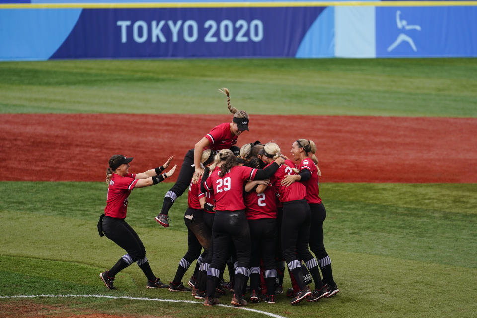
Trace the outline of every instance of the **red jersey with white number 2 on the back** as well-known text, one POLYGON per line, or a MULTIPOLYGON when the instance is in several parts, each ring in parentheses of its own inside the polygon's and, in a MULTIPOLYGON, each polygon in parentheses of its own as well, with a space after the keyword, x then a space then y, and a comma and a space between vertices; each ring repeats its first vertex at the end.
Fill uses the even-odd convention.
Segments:
POLYGON ((277 218, 276 189, 269 185, 263 193, 250 191, 245 194, 245 213, 248 220, 277 218))

